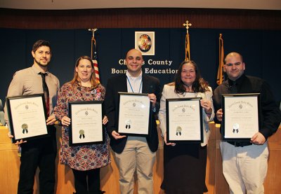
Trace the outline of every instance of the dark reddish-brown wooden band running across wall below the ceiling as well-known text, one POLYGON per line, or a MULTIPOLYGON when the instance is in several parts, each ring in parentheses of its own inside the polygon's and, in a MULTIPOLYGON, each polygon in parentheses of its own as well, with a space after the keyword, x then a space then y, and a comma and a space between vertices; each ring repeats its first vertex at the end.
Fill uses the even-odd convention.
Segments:
POLYGON ((192 28, 281 29, 281 11, 207 8, 16 10, 0 8, 0 27, 18 29, 192 28))

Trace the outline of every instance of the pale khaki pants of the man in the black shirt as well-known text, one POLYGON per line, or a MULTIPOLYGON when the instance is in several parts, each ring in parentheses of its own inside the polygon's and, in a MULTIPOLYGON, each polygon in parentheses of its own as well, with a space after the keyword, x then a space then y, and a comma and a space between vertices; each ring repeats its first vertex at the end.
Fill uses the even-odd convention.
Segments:
POLYGON ((263 145, 235 147, 221 141, 223 175, 230 193, 264 193, 263 182, 268 169, 268 142, 263 145))

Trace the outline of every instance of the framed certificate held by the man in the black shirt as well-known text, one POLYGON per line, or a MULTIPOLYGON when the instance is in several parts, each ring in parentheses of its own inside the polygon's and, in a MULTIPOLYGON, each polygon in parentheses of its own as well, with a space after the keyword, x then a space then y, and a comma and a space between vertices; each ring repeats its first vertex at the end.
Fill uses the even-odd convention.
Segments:
POLYGON ((260 94, 228 94, 222 97, 222 138, 250 141, 259 132, 260 94))

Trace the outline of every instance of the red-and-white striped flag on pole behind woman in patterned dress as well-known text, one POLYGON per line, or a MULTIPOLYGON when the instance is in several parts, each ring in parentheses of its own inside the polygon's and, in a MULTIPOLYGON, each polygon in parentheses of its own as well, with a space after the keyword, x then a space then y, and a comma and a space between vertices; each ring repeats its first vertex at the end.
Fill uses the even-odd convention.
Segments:
POLYGON ((96 82, 100 83, 100 75, 98 72, 98 55, 96 51, 96 39, 95 39, 95 32, 97 31, 97 28, 90 28, 88 29, 89 32, 92 32, 92 38, 91 38, 91 60, 93 61, 93 67, 95 70, 95 76, 96 76, 96 82))

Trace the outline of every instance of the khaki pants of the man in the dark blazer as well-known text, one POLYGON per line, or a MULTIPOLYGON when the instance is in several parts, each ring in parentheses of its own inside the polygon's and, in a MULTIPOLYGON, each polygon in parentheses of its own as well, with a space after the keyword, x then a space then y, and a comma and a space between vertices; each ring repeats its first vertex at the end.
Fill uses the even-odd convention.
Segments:
POLYGON ((120 193, 133 193, 134 174, 136 172, 138 194, 152 194, 152 168, 156 152, 150 151, 145 137, 128 137, 124 151, 114 155, 119 168, 120 193))

